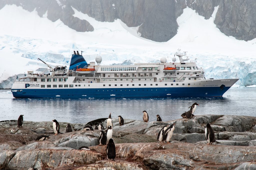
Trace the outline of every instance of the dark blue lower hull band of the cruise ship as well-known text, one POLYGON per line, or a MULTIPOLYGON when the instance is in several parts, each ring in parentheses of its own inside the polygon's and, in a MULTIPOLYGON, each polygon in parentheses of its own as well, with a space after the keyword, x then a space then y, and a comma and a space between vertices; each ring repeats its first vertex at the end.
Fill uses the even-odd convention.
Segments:
POLYGON ((12 89, 15 98, 222 97, 230 87, 12 89))

